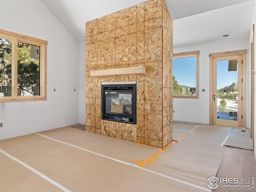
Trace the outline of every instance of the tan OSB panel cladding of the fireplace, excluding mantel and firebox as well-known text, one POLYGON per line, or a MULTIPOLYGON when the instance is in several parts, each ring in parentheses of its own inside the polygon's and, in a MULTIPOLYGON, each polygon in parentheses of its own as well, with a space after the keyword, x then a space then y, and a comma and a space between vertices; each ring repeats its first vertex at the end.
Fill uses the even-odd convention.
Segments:
POLYGON ((150 0, 86 23, 86 131, 164 147, 172 141, 172 20, 150 0), (145 66, 145 74, 90 71, 145 66), (101 120, 101 83, 137 83, 137 124, 101 120))

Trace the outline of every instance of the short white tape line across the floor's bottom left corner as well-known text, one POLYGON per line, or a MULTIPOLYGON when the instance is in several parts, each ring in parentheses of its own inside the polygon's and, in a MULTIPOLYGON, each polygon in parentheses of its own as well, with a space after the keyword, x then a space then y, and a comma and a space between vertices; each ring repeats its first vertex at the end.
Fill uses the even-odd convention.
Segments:
POLYGON ((15 158, 14 156, 8 154, 7 152, 5 152, 4 150, 0 149, 0 152, 6 156, 8 156, 9 158, 11 158, 12 160, 18 162, 19 164, 21 164, 22 166, 26 167, 27 169, 29 169, 30 171, 34 172, 35 174, 37 174, 38 176, 42 177, 43 179, 47 180, 48 182, 50 182, 51 184, 55 185, 56 187, 58 187, 59 189, 61 189, 64 192, 71 192, 70 190, 68 190, 67 188, 65 188, 64 186, 62 186, 61 184, 58 184, 56 181, 52 180, 51 178, 49 178, 48 176, 42 174, 41 172, 39 172, 38 170, 30 167, 28 164, 22 162, 21 160, 15 158))

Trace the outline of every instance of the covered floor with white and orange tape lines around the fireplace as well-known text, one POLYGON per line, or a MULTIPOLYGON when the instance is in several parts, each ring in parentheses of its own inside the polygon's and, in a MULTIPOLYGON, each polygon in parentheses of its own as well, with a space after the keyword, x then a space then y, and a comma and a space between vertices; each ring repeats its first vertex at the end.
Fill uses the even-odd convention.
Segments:
POLYGON ((0 140, 0 192, 202 192, 216 174, 256 176, 252 150, 222 145, 230 127, 174 122, 163 149, 81 127, 0 140))

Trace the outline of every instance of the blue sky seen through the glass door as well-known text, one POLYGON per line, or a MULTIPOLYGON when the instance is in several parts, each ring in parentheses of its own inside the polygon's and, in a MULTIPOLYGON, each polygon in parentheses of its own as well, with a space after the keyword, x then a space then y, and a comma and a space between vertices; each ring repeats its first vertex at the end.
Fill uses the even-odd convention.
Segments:
POLYGON ((228 71, 228 60, 217 62, 217 89, 237 83, 238 71, 228 71))

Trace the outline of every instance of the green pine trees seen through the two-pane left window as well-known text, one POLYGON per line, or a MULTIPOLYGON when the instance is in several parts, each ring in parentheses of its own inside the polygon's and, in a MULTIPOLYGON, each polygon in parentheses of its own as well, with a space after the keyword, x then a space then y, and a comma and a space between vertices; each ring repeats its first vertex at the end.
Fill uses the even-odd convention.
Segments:
MULTIPOLYGON (((0 38, 0 85, 11 87, 12 84, 12 46, 11 40, 0 38)), ((18 42, 18 96, 39 95, 40 63, 30 57, 30 44, 18 42), (36 88, 38 91, 32 91, 36 88)))

